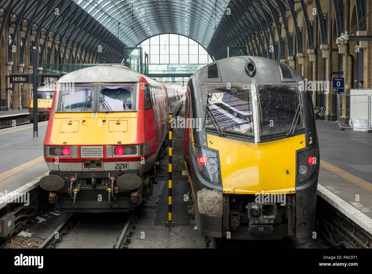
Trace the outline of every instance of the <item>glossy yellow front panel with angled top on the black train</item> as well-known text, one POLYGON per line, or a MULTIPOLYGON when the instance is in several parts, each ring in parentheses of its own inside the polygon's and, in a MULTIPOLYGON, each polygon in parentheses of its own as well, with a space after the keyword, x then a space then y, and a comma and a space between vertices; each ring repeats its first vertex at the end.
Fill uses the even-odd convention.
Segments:
POLYGON ((305 147, 304 134, 262 144, 209 134, 207 140, 219 151, 224 193, 295 193, 296 150, 305 147))

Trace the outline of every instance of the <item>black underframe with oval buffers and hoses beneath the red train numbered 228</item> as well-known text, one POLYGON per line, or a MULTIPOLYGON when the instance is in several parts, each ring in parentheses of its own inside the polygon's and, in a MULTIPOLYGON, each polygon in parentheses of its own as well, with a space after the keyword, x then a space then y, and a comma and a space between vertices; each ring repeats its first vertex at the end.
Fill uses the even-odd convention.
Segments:
POLYGON ((164 140, 151 169, 141 175, 138 170, 121 169, 49 171, 49 176, 42 178, 40 184, 43 189, 53 184, 63 185, 57 191, 49 192, 49 202, 65 212, 132 211, 153 194, 153 185, 157 184, 155 173, 158 160, 163 158, 166 146, 167 140, 164 140))

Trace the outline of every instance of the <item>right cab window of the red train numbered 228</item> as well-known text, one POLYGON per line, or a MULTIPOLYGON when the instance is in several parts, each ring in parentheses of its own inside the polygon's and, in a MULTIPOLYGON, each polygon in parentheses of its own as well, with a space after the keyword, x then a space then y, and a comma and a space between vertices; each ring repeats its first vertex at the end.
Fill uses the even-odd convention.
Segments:
POLYGON ((134 86, 100 86, 98 111, 132 111, 135 110, 134 86))

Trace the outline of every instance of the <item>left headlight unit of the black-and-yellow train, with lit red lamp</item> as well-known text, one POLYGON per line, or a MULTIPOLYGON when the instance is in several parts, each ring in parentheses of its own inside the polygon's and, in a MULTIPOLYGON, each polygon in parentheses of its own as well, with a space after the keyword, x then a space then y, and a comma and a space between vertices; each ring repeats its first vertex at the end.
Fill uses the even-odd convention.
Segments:
POLYGON ((199 173, 208 182, 221 185, 221 168, 219 166, 218 151, 194 144, 195 160, 199 173))

